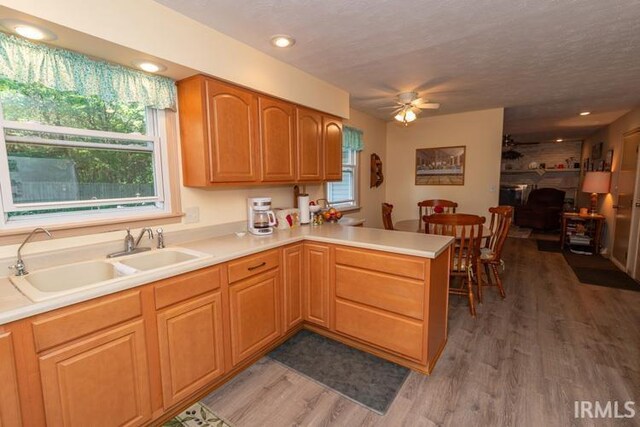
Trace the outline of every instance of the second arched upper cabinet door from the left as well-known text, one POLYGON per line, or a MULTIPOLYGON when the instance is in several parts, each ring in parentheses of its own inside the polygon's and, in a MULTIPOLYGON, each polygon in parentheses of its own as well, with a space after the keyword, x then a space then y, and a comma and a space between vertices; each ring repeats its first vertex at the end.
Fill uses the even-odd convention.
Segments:
POLYGON ((296 179, 296 114, 288 102, 260 96, 262 181, 296 179))

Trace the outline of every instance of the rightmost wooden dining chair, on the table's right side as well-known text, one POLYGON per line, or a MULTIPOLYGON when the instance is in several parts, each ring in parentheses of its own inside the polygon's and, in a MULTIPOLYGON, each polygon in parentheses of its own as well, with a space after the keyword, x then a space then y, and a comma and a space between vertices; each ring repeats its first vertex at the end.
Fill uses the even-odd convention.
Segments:
MULTIPOLYGON (((500 278, 498 267, 504 265, 502 261, 502 248, 509 235, 509 227, 511 227, 513 218, 513 207, 496 206, 489 208, 489 212, 491 213, 491 222, 489 223, 491 236, 487 238, 484 247, 480 249, 480 262, 484 266, 487 275, 486 285, 494 285, 491 280, 491 272, 493 272, 495 286, 498 287, 500 296, 504 298, 506 294, 502 286, 502 279, 500 278)), ((480 302, 482 302, 482 286, 484 286, 484 283, 480 280, 478 282, 478 300, 480 302)))

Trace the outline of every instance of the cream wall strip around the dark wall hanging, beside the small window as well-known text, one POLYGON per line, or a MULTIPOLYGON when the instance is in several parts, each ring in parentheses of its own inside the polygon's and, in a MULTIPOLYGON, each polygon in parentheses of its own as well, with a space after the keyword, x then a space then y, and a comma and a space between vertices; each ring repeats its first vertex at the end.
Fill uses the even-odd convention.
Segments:
POLYGON ((382 159, 383 174, 387 174, 386 145, 387 124, 384 120, 377 119, 368 114, 351 109, 346 125, 363 131, 364 150, 360 152, 360 210, 349 213, 347 216, 365 219, 365 227, 382 228, 382 213, 380 205, 385 200, 386 179, 380 187, 369 188, 371 176, 371 154, 376 153, 382 159))

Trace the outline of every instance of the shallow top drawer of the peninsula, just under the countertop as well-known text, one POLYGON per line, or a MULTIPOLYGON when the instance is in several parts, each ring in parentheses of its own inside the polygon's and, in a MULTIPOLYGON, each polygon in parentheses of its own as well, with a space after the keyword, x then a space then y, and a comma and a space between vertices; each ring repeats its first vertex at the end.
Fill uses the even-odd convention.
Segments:
POLYGON ((424 280, 425 261, 365 249, 336 247, 336 264, 424 280))

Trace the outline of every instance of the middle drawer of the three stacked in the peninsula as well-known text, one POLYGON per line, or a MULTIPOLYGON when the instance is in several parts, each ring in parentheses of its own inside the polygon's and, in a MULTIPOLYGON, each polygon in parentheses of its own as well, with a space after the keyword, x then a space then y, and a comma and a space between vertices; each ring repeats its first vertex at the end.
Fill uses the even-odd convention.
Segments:
POLYGON ((417 280, 337 265, 336 296, 416 319, 424 318, 424 284, 417 280))

